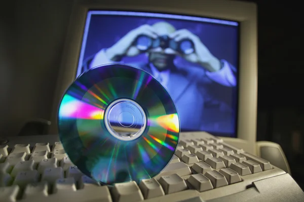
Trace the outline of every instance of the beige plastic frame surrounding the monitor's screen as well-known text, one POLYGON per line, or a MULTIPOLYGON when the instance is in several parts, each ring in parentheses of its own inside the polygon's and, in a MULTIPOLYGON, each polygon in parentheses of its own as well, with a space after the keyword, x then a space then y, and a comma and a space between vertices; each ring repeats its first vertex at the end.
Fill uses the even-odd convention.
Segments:
MULTIPOLYGON (((105 2, 99 0, 75 1, 62 54, 62 61, 51 114, 51 132, 57 133, 57 111, 62 94, 77 74, 80 50, 90 10, 117 10, 169 13, 222 19, 240 23, 237 138, 250 145, 256 141, 257 116, 257 8, 253 3, 240 1, 126 1, 105 2), (174 8, 172 7, 174 5, 174 8), (156 6, 158 5, 158 6, 156 6), (221 5, 221 6, 219 6, 221 5), (73 72, 73 73, 71 73, 73 72)), ((251 149, 252 149, 251 148, 251 149)), ((251 150, 250 149, 250 150, 251 150)))

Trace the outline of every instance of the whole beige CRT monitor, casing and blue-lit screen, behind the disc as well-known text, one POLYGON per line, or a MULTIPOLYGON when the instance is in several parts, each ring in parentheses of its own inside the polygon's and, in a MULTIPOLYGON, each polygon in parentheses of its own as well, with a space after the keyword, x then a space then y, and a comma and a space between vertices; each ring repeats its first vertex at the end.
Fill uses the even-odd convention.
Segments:
POLYGON ((95 66, 123 63, 144 69, 167 88, 181 132, 206 131, 254 142, 256 32, 251 3, 77 1, 54 112, 77 76, 95 66))

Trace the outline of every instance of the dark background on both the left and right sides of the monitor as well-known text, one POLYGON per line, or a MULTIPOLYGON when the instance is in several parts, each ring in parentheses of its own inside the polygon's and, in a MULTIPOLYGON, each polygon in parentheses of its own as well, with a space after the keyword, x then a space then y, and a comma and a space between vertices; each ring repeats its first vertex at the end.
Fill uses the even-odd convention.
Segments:
MULTIPOLYGON (((251 2, 258 5, 257 140, 283 147, 303 189, 301 2, 251 2)), ((71 8, 72 0, 0 3, 0 136, 17 135, 30 118, 49 119, 71 8)))

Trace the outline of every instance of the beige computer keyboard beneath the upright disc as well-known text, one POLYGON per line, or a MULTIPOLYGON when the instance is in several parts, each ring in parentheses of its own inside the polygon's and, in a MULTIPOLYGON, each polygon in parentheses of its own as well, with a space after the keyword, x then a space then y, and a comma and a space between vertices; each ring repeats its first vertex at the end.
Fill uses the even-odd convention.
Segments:
POLYGON ((1 202, 279 201, 286 183, 293 197, 304 198, 289 174, 208 133, 182 133, 170 164, 155 178, 111 187, 83 175, 57 135, 13 137, 0 145, 1 202))

